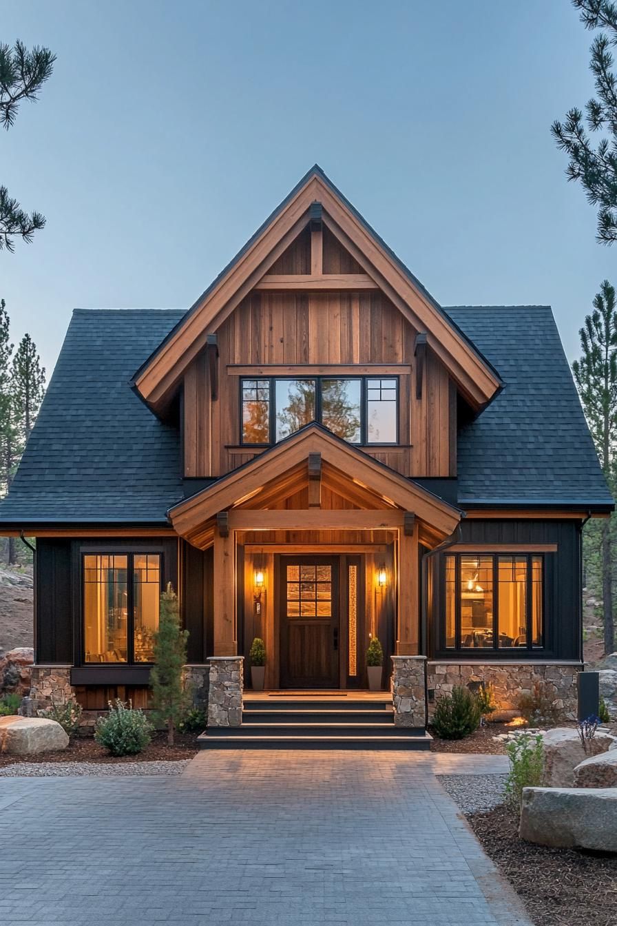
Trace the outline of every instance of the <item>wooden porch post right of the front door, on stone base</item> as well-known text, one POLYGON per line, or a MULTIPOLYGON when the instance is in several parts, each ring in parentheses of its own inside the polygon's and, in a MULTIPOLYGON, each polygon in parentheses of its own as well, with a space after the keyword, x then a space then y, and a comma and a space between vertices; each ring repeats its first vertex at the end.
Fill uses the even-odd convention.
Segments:
POLYGON ((418 525, 406 517, 399 531, 397 656, 417 656, 420 639, 420 585, 418 563, 418 525))

